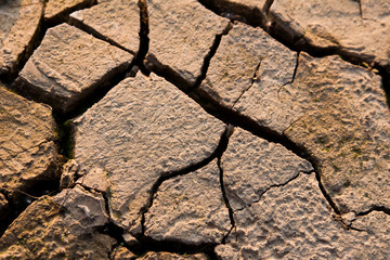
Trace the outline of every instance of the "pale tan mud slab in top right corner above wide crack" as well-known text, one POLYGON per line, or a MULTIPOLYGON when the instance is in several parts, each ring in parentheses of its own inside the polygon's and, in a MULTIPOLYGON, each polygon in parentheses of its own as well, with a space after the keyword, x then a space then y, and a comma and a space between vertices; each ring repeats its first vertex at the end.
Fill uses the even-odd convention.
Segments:
POLYGON ((275 0, 271 12, 312 46, 341 49, 382 66, 390 65, 388 1, 275 0), (365 15, 367 9, 370 11, 365 15))

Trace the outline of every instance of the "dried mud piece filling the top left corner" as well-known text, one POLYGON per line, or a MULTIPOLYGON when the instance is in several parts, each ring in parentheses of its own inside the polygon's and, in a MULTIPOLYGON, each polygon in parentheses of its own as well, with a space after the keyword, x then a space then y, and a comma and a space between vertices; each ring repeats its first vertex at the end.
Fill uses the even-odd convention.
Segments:
POLYGON ((14 74, 24 53, 32 48, 43 3, 40 0, 2 0, 0 10, 0 75, 14 74))

